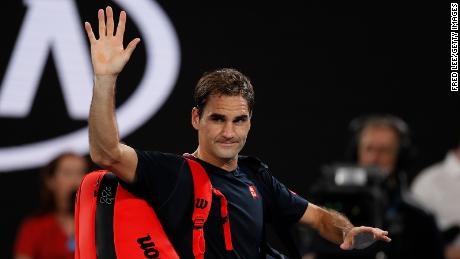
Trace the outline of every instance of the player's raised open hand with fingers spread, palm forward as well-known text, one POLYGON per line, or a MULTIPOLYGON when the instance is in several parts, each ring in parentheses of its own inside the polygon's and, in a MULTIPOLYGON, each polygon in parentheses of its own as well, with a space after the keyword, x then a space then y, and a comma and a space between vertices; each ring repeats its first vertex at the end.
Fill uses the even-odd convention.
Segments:
POLYGON ((93 71, 95 76, 117 76, 128 62, 140 39, 133 39, 125 49, 123 47, 123 35, 125 33, 126 12, 120 12, 115 35, 113 11, 110 6, 107 6, 105 14, 103 9, 99 9, 99 39, 94 36, 90 23, 85 22, 86 33, 91 43, 93 71), (107 23, 105 14, 107 14, 107 23))

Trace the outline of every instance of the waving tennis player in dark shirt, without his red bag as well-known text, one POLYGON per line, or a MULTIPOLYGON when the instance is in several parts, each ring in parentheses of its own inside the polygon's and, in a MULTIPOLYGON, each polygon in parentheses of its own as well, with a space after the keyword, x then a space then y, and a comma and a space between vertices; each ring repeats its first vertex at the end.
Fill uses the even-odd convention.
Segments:
MULTIPOLYGON (((99 39, 91 25, 85 23, 95 74, 89 117, 91 158, 116 174, 132 192, 144 197, 156 210, 179 256, 193 258, 193 187, 185 159, 135 150, 119 141, 115 83, 140 39, 132 40, 124 49, 123 11, 116 33, 110 7, 105 13, 99 10, 98 19, 99 39)), ((354 227, 343 215, 308 203, 272 177, 263 163, 238 156, 251 127, 254 103, 252 85, 243 74, 222 69, 203 76, 195 89, 195 101, 191 115, 199 144, 193 152, 194 160, 206 169, 213 187, 227 197, 234 236, 234 250, 226 252, 219 206, 212 206, 204 226, 206 258, 264 257, 267 221, 310 225, 342 249, 365 247, 376 240, 390 241, 386 231, 354 227)))

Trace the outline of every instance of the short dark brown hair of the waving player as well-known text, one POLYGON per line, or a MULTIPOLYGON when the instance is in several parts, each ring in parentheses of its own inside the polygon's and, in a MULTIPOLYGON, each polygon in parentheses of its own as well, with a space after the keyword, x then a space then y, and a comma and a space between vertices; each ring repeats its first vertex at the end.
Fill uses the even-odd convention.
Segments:
POLYGON ((200 78, 193 94, 200 117, 212 95, 242 96, 248 103, 249 113, 252 113, 254 89, 249 78, 236 69, 222 68, 207 72, 200 78))

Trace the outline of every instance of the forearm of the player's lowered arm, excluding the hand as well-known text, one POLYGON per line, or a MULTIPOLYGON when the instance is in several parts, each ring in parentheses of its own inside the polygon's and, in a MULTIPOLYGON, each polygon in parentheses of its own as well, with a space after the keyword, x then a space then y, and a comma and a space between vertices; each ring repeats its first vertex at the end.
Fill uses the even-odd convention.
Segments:
POLYGON ((321 208, 321 214, 316 226, 317 231, 325 239, 341 244, 353 225, 347 217, 335 210, 321 208))

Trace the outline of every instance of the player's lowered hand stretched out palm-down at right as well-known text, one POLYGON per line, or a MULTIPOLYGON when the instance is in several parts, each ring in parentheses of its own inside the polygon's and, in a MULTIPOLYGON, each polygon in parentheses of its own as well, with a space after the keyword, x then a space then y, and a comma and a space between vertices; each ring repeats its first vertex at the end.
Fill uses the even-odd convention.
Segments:
POLYGON ((387 231, 383 231, 379 228, 354 227, 348 231, 340 248, 344 250, 353 248, 363 249, 372 245, 377 240, 390 242, 391 239, 387 235, 387 231))

